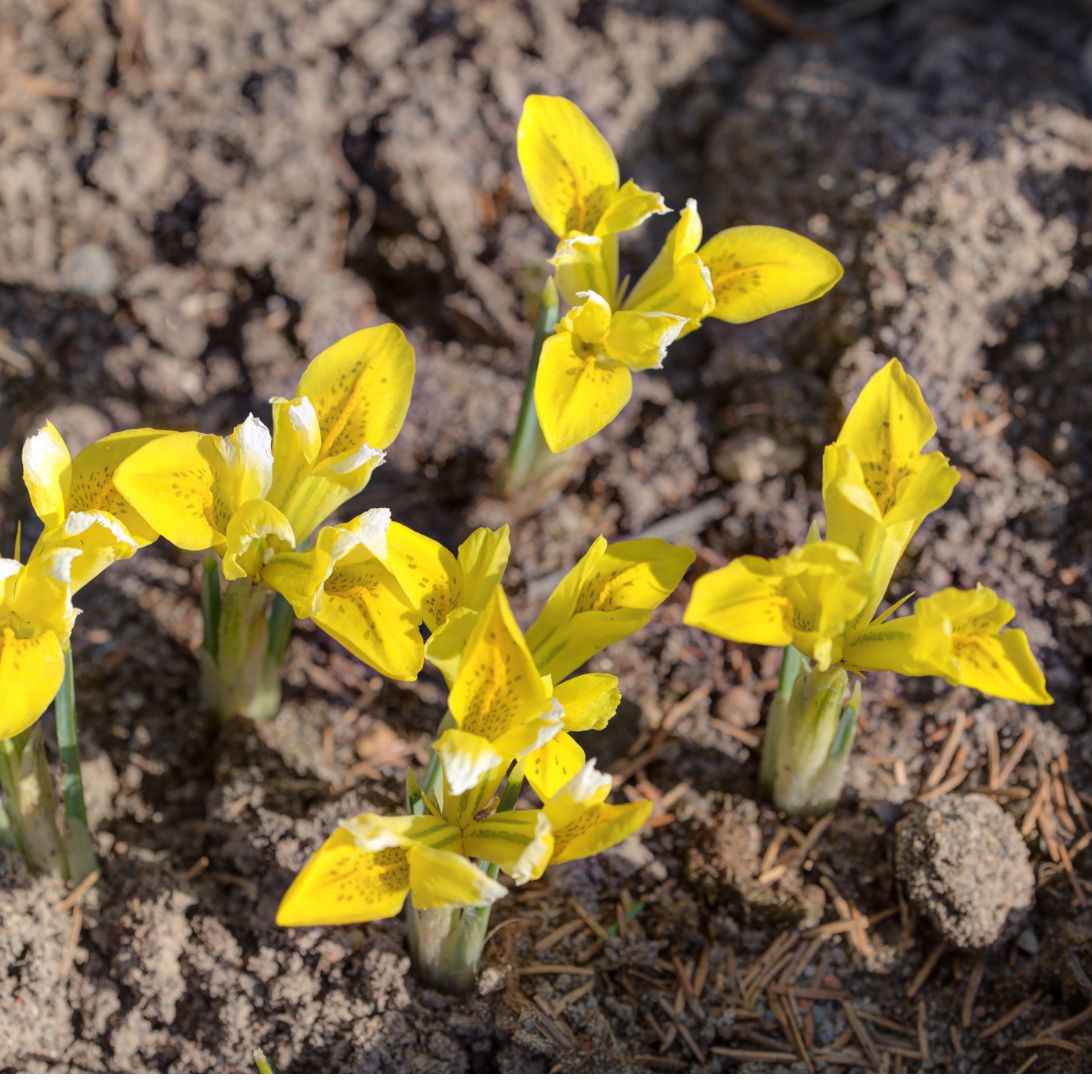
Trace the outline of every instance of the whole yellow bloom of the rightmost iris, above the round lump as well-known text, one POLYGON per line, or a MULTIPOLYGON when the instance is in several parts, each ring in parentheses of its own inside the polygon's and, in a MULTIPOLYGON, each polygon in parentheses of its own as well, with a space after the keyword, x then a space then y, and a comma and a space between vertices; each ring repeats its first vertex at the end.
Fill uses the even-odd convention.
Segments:
POLYGON ((983 586, 946 589, 911 616, 878 618, 895 563, 959 474, 939 451, 922 392, 898 360, 868 381, 823 458, 827 539, 780 559, 744 556, 695 583, 684 621, 732 641, 794 645, 820 672, 938 676, 952 685, 1049 704, 1014 609, 983 586))

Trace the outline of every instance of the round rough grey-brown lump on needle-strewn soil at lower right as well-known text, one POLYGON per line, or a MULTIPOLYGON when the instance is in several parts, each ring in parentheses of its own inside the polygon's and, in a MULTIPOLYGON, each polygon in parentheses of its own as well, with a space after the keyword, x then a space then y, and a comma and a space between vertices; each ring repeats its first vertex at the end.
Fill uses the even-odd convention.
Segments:
POLYGON ((1009 940, 1035 902, 1016 822, 985 795, 947 795, 903 818, 895 874, 917 912, 958 949, 1009 940))

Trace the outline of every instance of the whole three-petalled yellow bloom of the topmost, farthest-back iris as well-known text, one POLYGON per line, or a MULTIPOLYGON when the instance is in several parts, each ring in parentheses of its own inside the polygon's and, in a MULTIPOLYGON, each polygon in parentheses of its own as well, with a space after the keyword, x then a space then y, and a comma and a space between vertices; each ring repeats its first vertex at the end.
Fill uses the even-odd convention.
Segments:
POLYGON ((667 347, 703 319, 750 322, 818 299, 842 276, 839 261, 787 229, 746 225, 702 244, 693 200, 649 270, 627 295, 618 234, 663 198, 631 180, 587 117, 563 97, 532 95, 518 129, 524 182, 558 237, 550 260, 570 311, 547 339, 535 378, 535 410, 559 453, 606 427, 632 395, 631 371, 658 368, 667 347))

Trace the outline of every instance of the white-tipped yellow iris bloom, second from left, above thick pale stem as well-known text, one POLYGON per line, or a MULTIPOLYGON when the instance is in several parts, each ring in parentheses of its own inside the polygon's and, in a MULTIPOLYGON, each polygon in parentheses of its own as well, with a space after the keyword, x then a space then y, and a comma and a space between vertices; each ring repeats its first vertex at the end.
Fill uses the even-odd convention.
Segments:
POLYGON ((413 380, 413 348, 397 327, 349 334, 308 365, 292 399, 274 399, 272 435, 253 416, 227 437, 161 435, 120 464, 117 488, 176 547, 219 555, 228 581, 276 590, 381 674, 416 678, 429 604, 413 595, 404 549, 424 537, 415 547, 417 534, 380 509, 322 529, 298 550, 382 463, 413 380))

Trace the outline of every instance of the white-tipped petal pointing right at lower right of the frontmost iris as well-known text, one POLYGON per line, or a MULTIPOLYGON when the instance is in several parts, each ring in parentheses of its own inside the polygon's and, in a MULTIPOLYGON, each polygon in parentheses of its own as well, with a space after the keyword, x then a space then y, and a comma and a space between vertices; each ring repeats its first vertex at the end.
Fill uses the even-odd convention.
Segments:
POLYGON ((649 819, 652 803, 607 803, 612 781, 589 761, 560 791, 543 804, 554 835, 550 864, 589 858, 621 843, 649 819))

